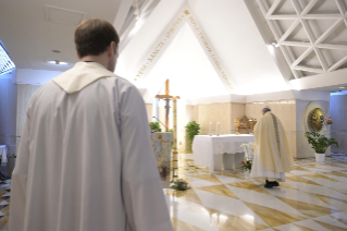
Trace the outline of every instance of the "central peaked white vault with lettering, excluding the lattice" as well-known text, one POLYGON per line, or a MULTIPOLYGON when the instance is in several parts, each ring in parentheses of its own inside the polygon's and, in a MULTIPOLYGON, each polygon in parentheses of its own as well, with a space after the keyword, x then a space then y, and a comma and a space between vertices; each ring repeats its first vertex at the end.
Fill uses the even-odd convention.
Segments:
MULTIPOLYGON (((191 94, 198 94, 197 89, 203 84, 215 85, 214 82, 222 82, 224 88, 231 86, 228 93, 243 95, 288 89, 272 49, 265 45, 244 1, 162 0, 121 53, 116 73, 141 87, 154 86, 165 78, 182 80, 183 85, 191 85, 191 94), (174 41, 183 28, 179 20, 190 25, 197 39, 178 39, 181 45, 174 41), (170 51, 168 47, 172 42, 185 50, 170 51), (205 50, 205 56, 194 50, 197 45, 205 50), (178 68, 186 57, 191 57, 189 63, 194 64, 178 68), (206 71, 209 78, 199 80, 199 72, 208 69, 207 60, 214 68, 214 74, 206 71)), ((177 94, 182 95, 185 88, 181 90, 177 94)), ((205 96, 215 95, 213 90, 211 87, 205 90, 205 96)), ((220 94, 223 90, 222 87, 220 94)))

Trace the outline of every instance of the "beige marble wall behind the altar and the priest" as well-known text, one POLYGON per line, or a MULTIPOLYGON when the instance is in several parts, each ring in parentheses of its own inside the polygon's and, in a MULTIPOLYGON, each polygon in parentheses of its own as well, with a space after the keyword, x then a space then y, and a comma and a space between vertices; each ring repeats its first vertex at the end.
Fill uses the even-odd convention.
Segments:
MULTIPOLYGON (((197 105, 191 106, 193 117, 201 125, 201 133, 209 132, 210 122, 215 130, 216 122, 221 124, 221 131, 224 134, 235 133, 234 120, 236 117, 239 119, 244 115, 248 118, 259 119, 261 117, 261 109, 264 105, 269 105, 274 114, 281 120, 287 135, 290 153, 294 158, 309 158, 314 157, 314 150, 308 144, 305 137, 306 131, 306 109, 311 101, 290 99, 290 100, 275 100, 264 102, 250 102, 250 104, 211 104, 211 105, 197 105)), ((314 101, 322 107, 326 115, 330 115, 329 101, 314 101)), ((325 126, 322 134, 330 137, 330 126, 325 126)), ((326 154, 330 156, 330 149, 326 154)))

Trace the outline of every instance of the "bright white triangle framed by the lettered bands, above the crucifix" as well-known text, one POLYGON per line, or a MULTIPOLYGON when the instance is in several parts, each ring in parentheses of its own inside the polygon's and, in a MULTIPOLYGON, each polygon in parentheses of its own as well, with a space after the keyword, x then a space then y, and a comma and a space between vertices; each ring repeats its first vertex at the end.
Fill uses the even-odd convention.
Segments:
POLYGON ((181 98, 228 93, 187 23, 142 82, 140 87, 149 92, 146 100, 159 94, 166 80, 170 80, 170 94, 181 98))

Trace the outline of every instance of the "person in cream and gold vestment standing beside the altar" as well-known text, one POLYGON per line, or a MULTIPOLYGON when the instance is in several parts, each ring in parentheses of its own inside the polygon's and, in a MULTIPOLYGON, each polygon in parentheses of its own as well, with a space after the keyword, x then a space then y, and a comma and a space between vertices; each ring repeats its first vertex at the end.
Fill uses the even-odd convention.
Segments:
POLYGON ((285 181, 285 172, 292 171, 294 161, 280 119, 269 106, 262 108, 262 114, 255 126, 255 157, 250 177, 265 181, 265 187, 273 187, 285 181))

